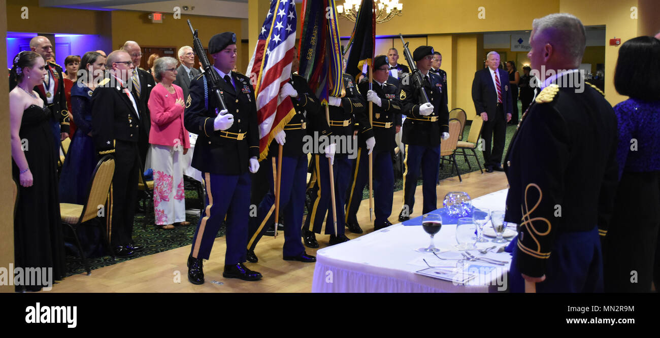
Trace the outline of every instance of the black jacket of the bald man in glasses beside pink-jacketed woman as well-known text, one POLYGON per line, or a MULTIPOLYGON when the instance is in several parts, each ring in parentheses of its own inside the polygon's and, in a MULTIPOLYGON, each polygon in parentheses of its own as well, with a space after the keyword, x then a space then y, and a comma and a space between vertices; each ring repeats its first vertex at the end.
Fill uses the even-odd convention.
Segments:
MULTIPOLYGON (((119 81, 110 73, 92 94, 92 137, 96 151, 114 152, 115 140, 137 143, 141 128, 140 118, 131 99, 119 81)), ((135 99, 137 105, 137 98, 135 99)))

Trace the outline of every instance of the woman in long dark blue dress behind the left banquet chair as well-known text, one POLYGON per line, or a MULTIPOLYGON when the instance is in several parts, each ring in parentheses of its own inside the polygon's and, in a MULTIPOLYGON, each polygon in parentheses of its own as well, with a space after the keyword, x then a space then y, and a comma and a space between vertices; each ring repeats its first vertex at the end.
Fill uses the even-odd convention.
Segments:
MULTIPOLYGON (((62 166, 59 178, 59 200, 61 203, 84 205, 87 201, 89 184, 98 163, 98 156, 92 141, 92 110, 90 100, 98 81, 103 79, 106 58, 96 51, 82 55, 81 69, 84 70, 79 81, 71 88, 71 114, 78 128, 76 129, 69 152, 62 166)), ((86 257, 101 255, 100 234, 94 227, 79 228, 79 237, 86 257)), ((74 251, 75 246, 67 245, 74 251)))

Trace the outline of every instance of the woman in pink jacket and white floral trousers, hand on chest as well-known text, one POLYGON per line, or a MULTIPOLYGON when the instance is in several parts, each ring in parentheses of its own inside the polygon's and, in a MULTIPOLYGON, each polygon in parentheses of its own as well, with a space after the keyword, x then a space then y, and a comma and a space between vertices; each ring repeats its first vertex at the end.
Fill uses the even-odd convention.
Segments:
POLYGON ((154 170, 154 214, 156 226, 172 229, 185 221, 183 194, 183 155, 190 148, 188 131, 183 127, 183 90, 173 85, 177 61, 160 57, 154 63, 159 81, 149 96, 151 112, 151 166, 154 170))

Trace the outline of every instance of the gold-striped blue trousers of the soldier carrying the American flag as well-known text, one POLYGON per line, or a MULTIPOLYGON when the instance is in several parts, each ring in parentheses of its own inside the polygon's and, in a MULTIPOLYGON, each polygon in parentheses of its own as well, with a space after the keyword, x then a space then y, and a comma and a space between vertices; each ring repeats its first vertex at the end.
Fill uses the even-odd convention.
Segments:
MULTIPOLYGON (((275 223, 275 180, 277 179, 277 156, 271 156, 262 165, 268 167, 270 189, 259 203, 257 217, 249 220, 248 249, 254 250, 261 236, 275 223), (270 163, 269 163, 270 162, 270 163)), ((280 213, 284 215, 285 256, 297 256, 305 252, 300 238, 302 214, 305 207, 307 178, 307 155, 282 156, 282 177, 280 188, 280 213)))

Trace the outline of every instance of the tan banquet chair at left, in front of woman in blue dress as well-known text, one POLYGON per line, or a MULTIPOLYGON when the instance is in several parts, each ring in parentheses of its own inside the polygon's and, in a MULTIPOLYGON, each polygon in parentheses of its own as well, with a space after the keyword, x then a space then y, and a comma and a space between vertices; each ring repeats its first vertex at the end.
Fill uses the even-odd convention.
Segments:
MULTIPOLYGON (((75 238, 76 245, 81 254, 82 265, 84 265, 87 275, 91 275, 92 271, 87 263, 87 259, 84 257, 84 250, 82 250, 81 242, 78 238, 77 229, 84 222, 88 220, 96 219, 100 217, 99 209, 97 207, 103 206, 106 204, 108 199, 108 192, 110 191, 110 184, 112 184, 112 176, 115 173, 115 158, 111 155, 106 155, 98 161, 94 172, 92 173, 92 179, 89 184, 89 192, 87 194, 87 201, 84 205, 72 204, 72 203, 59 203, 59 213, 61 215, 62 224, 66 224, 73 231, 73 238, 75 238)), ((108 210, 105 210, 105 215, 108 214, 108 210)), ((103 236, 104 246, 106 250, 112 253, 110 250, 110 242, 106 234, 106 229, 104 228, 103 222, 96 223, 100 228, 100 232, 103 236)), ((114 255, 114 254, 113 254, 114 255)))

